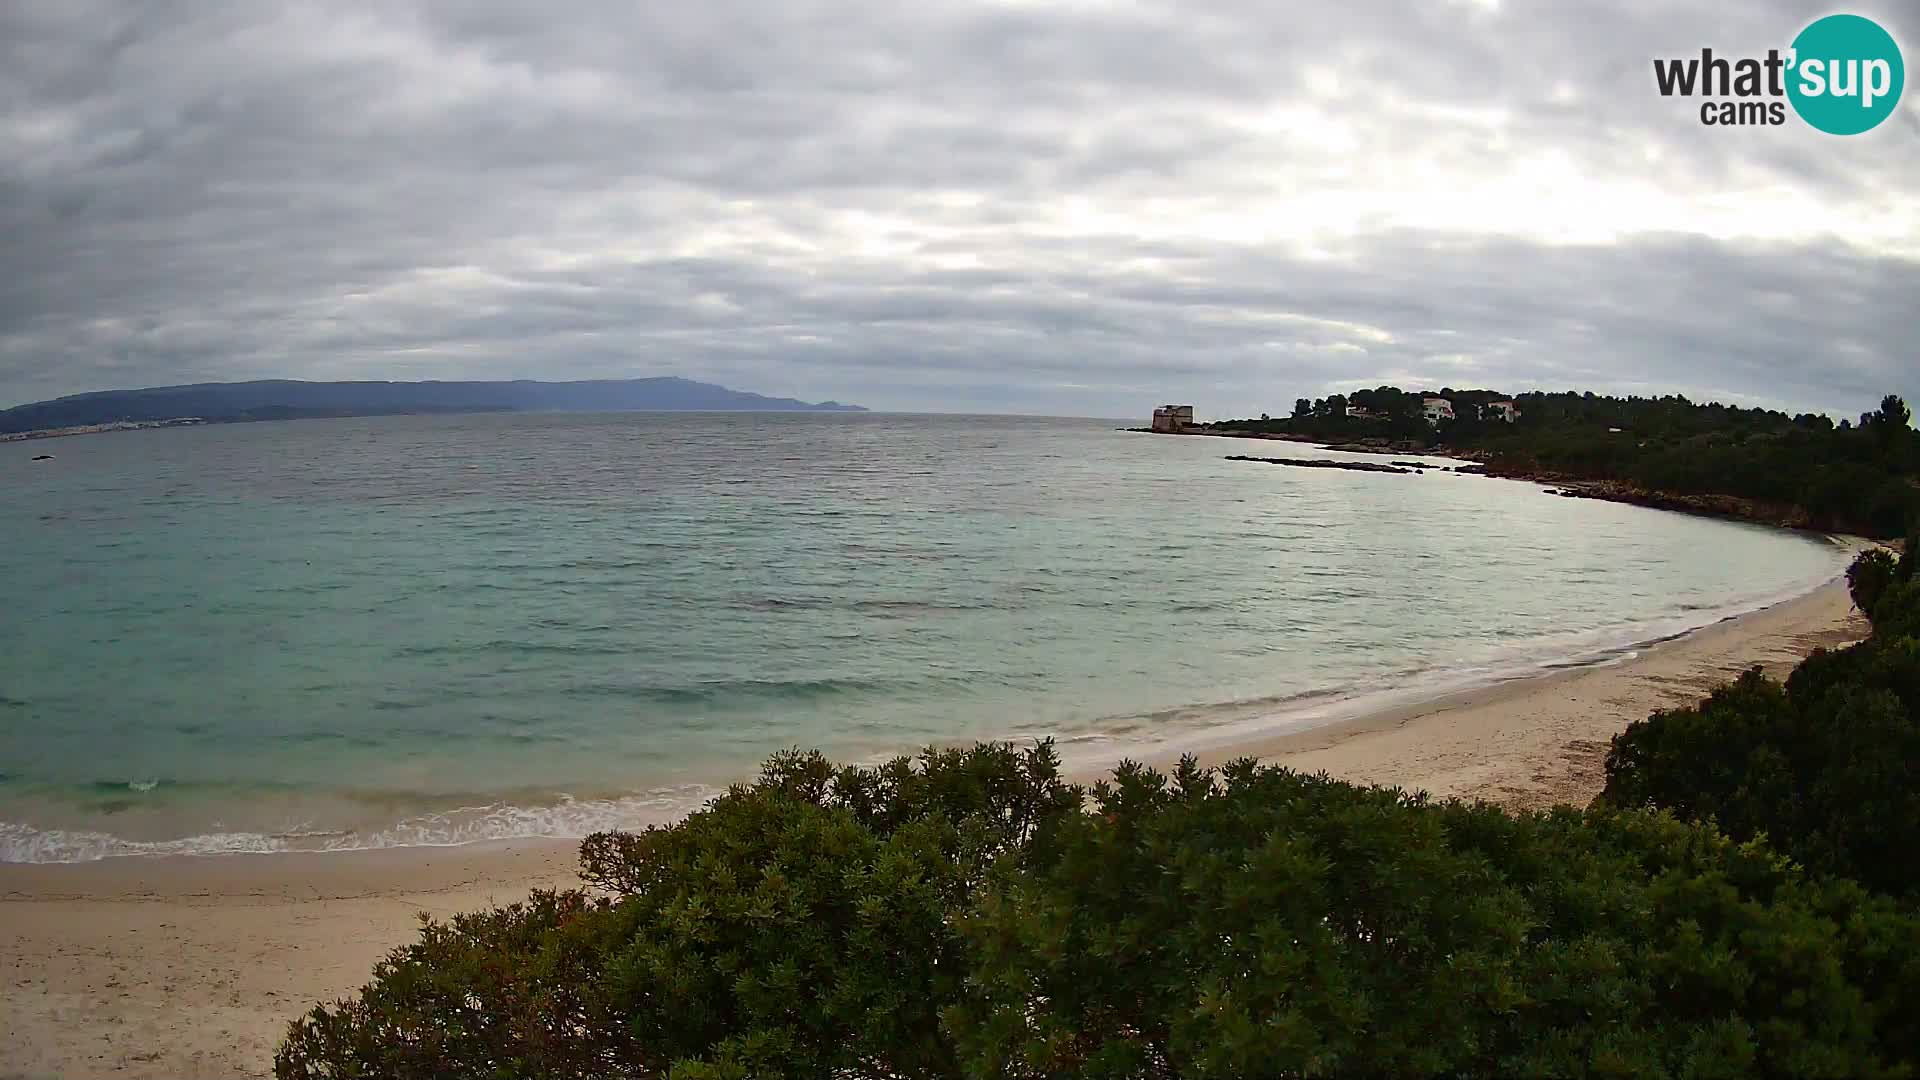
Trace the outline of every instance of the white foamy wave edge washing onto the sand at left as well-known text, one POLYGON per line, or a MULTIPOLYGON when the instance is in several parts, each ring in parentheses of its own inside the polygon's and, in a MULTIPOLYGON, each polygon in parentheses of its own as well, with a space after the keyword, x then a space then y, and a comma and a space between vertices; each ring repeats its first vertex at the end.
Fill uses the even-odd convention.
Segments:
POLYGON ((342 832, 204 832, 177 840, 129 840, 84 828, 36 828, 0 821, 0 863, 94 863, 125 855, 271 855, 294 851, 367 851, 378 847, 455 847, 490 840, 578 840, 591 832, 666 824, 701 805, 716 788, 682 786, 618 799, 574 799, 553 805, 509 803, 453 807, 409 817, 378 830, 342 832))

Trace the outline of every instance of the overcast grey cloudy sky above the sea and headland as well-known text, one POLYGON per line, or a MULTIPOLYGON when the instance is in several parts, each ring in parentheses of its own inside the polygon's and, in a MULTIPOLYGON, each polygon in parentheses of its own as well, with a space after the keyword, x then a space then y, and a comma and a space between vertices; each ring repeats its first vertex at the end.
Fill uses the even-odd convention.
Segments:
MULTIPOLYGON (((1839 138, 1701 127, 1651 73, 1830 10, 4 0, 0 405, 684 375, 941 411, 1396 382, 1851 415, 1920 400, 1920 90, 1839 138)), ((1910 0, 1849 10, 1912 79, 1910 0)))

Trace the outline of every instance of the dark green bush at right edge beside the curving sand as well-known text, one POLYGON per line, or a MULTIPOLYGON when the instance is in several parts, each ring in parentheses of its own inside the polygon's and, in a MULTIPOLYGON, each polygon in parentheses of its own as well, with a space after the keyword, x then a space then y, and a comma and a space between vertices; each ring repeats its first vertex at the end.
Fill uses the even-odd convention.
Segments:
POLYGON ((1920 580, 1914 544, 1847 573, 1872 636, 1786 684, 1759 669, 1613 740, 1601 799, 1764 836, 1822 874, 1920 897, 1920 580))

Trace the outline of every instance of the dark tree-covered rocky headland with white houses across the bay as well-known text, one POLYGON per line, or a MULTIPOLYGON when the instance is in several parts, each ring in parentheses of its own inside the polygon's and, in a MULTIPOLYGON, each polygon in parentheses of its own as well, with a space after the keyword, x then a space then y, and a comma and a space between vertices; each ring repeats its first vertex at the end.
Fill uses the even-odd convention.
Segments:
POLYGON ((1509 423, 1494 390, 1405 392, 1396 386, 1300 398, 1288 417, 1202 425, 1217 434, 1275 434, 1392 450, 1444 450, 1488 473, 1588 482, 1599 498, 1647 502, 1893 538, 1920 515, 1920 432, 1897 396, 1855 421, 1820 413, 1601 394, 1519 394, 1509 423), (1428 423, 1425 398, 1450 402, 1428 423), (1359 413, 1359 415, 1352 415, 1359 413))

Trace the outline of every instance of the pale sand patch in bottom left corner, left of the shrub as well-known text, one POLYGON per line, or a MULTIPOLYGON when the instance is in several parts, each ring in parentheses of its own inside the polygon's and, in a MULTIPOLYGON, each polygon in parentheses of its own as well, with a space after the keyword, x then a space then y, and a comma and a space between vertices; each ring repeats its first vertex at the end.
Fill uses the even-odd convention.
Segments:
POLYGON ((566 884, 570 842, 0 865, 0 1078, 267 1076, 420 911, 566 884))

